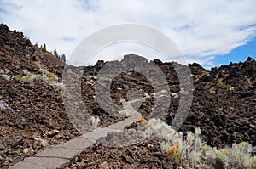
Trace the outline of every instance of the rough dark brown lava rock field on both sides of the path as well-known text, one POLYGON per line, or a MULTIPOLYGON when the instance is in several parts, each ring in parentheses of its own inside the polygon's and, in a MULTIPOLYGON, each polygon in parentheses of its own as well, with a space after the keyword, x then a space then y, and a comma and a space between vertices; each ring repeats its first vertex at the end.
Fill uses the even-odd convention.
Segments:
MULTIPOLYGON (((2 168, 22 161, 26 156, 34 155, 39 149, 47 149, 51 145, 61 144, 80 135, 65 113, 60 88, 41 81, 17 82, 13 78, 15 75, 22 75, 25 69, 40 73, 35 64, 38 62, 59 76, 61 82, 64 64, 51 57, 55 56, 42 53, 24 38, 22 33, 9 31, 6 25, 0 25, 0 69, 8 69, 7 74, 11 76, 9 80, 0 76, 0 167, 2 168), (44 140, 47 140, 48 145, 42 144, 44 140)), ((125 56, 125 59, 129 57, 140 58, 131 54, 125 56)), ((147 62, 145 59, 143 61, 147 62)), ((171 125, 179 104, 180 87, 173 67, 177 63, 162 63, 159 59, 154 59, 154 63, 160 66, 165 74, 170 92, 177 93, 177 98, 171 97, 170 110, 165 118, 165 121, 171 125)), ((97 103, 95 77, 104 65, 106 62, 98 61, 94 66, 84 67, 81 85, 84 104, 90 115, 100 118, 101 127, 107 127, 124 119, 109 114, 97 103)), ((255 146, 256 61, 248 58, 244 63, 230 63, 212 68, 211 71, 203 69, 198 64, 189 67, 194 81, 193 102, 180 130, 194 131, 195 127, 200 127, 202 137, 207 144, 218 148, 241 141, 247 141, 255 146)), ((120 99, 128 100, 127 93, 130 88, 137 88, 141 95, 154 93, 150 81, 145 76, 132 71, 120 73, 111 82, 111 98, 117 107, 122 107, 120 99)), ((138 111, 148 119, 153 106, 154 98, 150 97, 142 102, 138 111)), ((137 123, 126 128, 133 127, 137 127, 137 123)), ((176 168, 178 165, 165 161, 157 141, 148 139, 125 148, 109 148, 95 144, 89 149, 84 149, 83 153, 63 167, 119 166, 176 168)))

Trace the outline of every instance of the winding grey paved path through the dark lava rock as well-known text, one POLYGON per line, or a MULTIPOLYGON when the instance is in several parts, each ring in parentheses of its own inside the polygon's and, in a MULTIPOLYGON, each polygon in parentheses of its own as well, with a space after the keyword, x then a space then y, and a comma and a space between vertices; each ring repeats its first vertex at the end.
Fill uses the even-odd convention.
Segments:
POLYGON ((137 100, 127 102, 125 109, 130 110, 131 116, 124 121, 119 121, 113 125, 104 128, 98 128, 93 132, 87 132, 84 135, 73 138, 64 144, 55 145, 52 148, 39 151, 32 157, 27 157, 23 161, 11 166, 12 169, 46 169, 61 167, 64 163, 67 163, 74 155, 79 154, 81 151, 94 144, 100 137, 107 136, 108 132, 120 132, 132 122, 137 121, 142 117, 131 106, 131 103, 137 100))

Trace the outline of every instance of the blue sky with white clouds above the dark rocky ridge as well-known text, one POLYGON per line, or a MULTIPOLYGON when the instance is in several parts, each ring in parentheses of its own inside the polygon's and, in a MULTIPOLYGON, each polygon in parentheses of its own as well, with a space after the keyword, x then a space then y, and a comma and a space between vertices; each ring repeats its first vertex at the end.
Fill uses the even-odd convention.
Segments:
MULTIPOLYGON (((103 28, 146 25, 169 37, 187 62, 210 69, 256 59, 255 6, 255 0, 0 0, 0 22, 67 58, 103 28)), ((142 43, 120 42, 98 51, 91 64, 130 53, 172 61, 142 43)))

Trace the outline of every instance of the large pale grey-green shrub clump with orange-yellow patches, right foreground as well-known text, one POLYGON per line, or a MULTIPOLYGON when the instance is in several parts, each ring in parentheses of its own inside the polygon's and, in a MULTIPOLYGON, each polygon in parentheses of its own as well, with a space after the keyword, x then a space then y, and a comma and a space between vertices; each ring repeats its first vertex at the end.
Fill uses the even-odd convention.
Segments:
POLYGON ((160 147, 166 153, 166 159, 195 168, 255 169, 256 157, 251 155, 252 145, 247 142, 232 144, 231 148, 212 148, 200 138, 200 128, 195 132, 176 132, 159 119, 150 119, 143 126, 143 135, 155 135, 160 139, 160 147))

